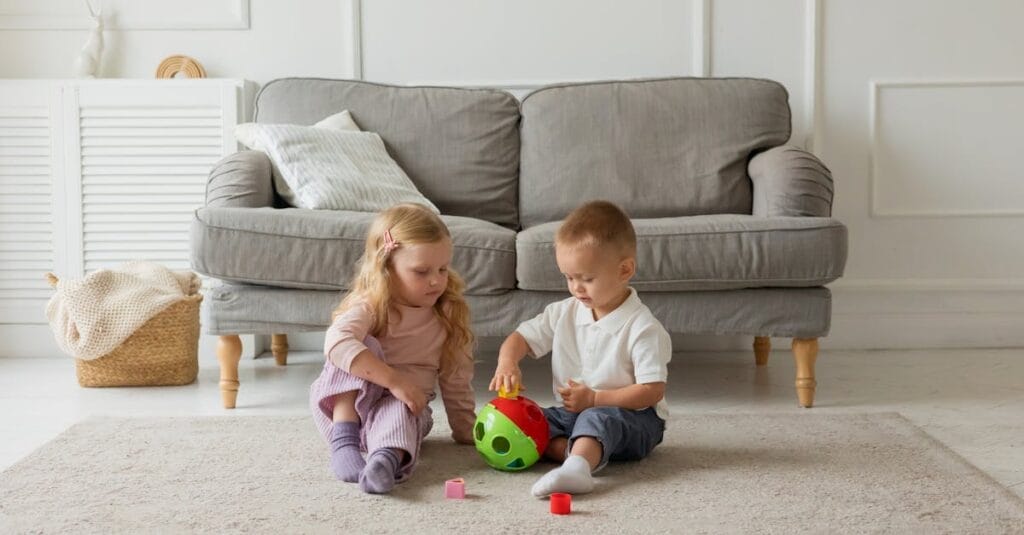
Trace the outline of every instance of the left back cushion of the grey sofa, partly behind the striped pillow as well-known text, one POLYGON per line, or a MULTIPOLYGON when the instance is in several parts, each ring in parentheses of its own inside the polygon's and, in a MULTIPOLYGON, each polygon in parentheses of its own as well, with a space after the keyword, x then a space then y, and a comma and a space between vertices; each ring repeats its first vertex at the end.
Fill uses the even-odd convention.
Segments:
POLYGON ((342 110, 380 134, 441 213, 518 227, 519 104, 512 94, 286 78, 263 86, 254 120, 311 125, 342 110))

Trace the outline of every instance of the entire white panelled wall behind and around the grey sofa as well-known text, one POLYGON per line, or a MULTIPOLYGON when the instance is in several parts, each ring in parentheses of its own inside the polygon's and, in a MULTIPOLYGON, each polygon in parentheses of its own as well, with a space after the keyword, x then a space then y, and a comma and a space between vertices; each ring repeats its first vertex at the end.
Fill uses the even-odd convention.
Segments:
MULTIPOLYGON (((521 92, 563 80, 773 78, 790 90, 793 142, 831 168, 835 216, 850 229, 823 345, 1024 345, 1019 0, 253 0, 249 9, 249 30, 109 32, 103 75, 150 77, 162 57, 185 53, 210 76, 256 82, 361 75, 521 92)), ((0 31, 0 76, 67 76, 85 36, 0 31)))

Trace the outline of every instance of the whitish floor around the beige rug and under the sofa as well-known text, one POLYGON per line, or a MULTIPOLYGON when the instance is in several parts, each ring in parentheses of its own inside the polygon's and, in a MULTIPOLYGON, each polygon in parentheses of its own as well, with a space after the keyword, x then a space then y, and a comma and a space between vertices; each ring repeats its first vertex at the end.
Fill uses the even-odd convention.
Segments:
MULTIPOLYGON (((0 359, 0 469, 69 425, 93 415, 305 414, 323 357, 294 353, 243 361, 239 407, 220 408, 218 369, 201 362, 197 383, 156 388, 81 388, 71 359, 0 359)), ((494 355, 477 367, 477 398, 494 355)), ((546 361, 525 363, 525 393, 551 402, 546 361)), ((1024 351, 823 352, 813 409, 796 404, 793 358, 772 353, 766 368, 746 353, 677 354, 669 402, 676 412, 899 412, 1024 497, 1024 351)))

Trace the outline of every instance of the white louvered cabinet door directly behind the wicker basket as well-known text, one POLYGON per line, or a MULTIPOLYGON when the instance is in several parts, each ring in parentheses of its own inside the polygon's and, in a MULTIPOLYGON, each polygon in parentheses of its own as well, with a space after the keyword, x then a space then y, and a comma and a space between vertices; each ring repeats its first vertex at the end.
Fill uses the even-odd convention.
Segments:
POLYGON ((69 89, 82 272, 128 260, 188 269, 188 224, 207 174, 236 150, 239 87, 168 80, 69 89))

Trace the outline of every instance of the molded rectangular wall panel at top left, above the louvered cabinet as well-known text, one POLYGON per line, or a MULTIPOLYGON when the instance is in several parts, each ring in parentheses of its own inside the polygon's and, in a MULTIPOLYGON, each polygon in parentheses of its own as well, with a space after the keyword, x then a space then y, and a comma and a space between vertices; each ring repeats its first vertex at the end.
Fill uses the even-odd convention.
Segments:
MULTIPOLYGON (((85 6, 56 9, 49 2, 33 2, 34 9, 4 8, 0 0, 0 30, 89 30, 85 6)), ((102 0, 104 31, 117 30, 249 30, 249 0, 140 2, 102 0)))

